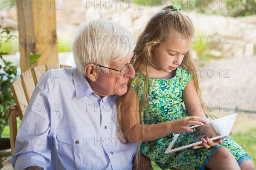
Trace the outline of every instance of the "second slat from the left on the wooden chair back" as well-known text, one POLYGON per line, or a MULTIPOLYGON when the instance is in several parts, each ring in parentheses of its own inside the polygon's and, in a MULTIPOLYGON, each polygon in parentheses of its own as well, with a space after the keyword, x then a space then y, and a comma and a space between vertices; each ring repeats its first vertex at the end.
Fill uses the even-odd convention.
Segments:
POLYGON ((22 85, 26 95, 27 102, 29 102, 30 97, 32 96, 32 93, 35 89, 35 82, 32 76, 32 71, 29 69, 23 72, 20 75, 20 78, 22 80, 22 85))

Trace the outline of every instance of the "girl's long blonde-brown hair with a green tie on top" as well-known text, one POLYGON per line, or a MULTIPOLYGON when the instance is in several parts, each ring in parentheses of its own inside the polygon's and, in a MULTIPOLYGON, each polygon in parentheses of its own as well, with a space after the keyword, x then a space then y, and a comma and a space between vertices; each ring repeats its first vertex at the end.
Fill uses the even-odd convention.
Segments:
MULTIPOLYGON (((143 123, 143 114, 147 114, 145 110, 148 102, 150 100, 150 79, 148 77, 148 65, 152 62, 153 59, 153 47, 157 47, 160 45, 161 42, 166 41, 170 38, 172 33, 176 32, 179 33, 181 36, 189 38, 194 34, 194 26, 190 18, 179 10, 173 10, 172 5, 168 5, 163 7, 157 14, 154 14, 153 17, 148 21, 147 25, 145 26, 144 31, 140 34, 137 45, 135 47, 134 52, 137 53, 137 60, 134 64, 135 71, 139 71, 139 78, 137 79, 137 97, 139 99, 139 90, 140 90, 140 82, 143 74, 145 74, 145 83, 143 88, 143 102, 140 105, 140 122, 143 123)), ((188 71, 193 76, 193 80, 195 82, 195 88, 198 94, 198 97, 201 101, 202 108, 203 102, 201 99, 201 91, 198 85, 198 77, 195 69, 195 65, 192 62, 190 57, 189 51, 185 54, 184 59, 181 63, 181 66, 188 71)), ((131 90, 132 81, 128 85, 128 91, 131 90)), ((122 106, 122 99, 125 98, 123 95, 119 102, 119 135, 121 134, 122 130, 122 123, 121 123, 121 106, 122 106)), ((137 114, 137 113, 136 113, 137 114)), ((136 116, 137 117, 137 116, 136 116)), ((143 132, 144 135, 144 132, 143 132)), ((120 138, 121 139, 121 138, 120 138)), ((123 140, 121 140, 124 142, 123 140)), ((126 143, 126 142, 124 142, 126 143)), ((136 153, 136 161, 138 163, 138 154, 140 153, 140 139, 137 136, 137 153, 136 153)))

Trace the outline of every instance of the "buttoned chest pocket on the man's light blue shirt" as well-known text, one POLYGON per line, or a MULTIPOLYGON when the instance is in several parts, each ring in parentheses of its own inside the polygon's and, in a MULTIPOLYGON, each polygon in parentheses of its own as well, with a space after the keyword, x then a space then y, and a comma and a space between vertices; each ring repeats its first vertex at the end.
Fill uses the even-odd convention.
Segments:
POLYGON ((87 169, 84 167, 87 153, 90 153, 89 142, 93 139, 95 133, 93 127, 68 127, 56 129, 56 139, 58 153, 65 169, 87 169), (85 160, 84 160, 85 159, 85 160))

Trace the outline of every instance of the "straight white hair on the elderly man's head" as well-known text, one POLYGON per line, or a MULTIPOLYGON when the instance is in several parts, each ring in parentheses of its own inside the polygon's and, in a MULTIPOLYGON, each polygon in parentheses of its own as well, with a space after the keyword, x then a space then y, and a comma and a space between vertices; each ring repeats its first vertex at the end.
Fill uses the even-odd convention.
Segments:
POLYGON ((79 26, 72 51, 77 68, 86 76, 85 65, 92 63, 108 67, 111 61, 131 54, 135 45, 128 29, 111 20, 96 19, 79 26))

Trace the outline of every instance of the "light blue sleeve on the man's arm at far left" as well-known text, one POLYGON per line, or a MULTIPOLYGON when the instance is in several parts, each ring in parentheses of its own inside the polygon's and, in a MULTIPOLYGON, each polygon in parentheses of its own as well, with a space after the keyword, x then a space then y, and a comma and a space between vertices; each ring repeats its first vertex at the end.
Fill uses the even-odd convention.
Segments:
POLYGON ((35 88, 17 133, 12 167, 24 170, 50 164, 50 109, 46 92, 35 88))

